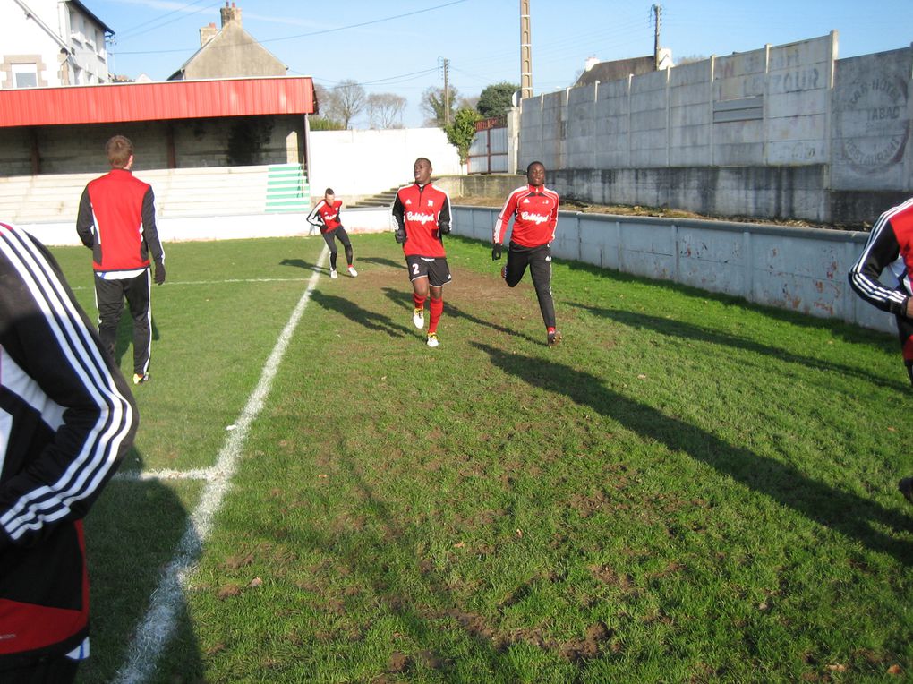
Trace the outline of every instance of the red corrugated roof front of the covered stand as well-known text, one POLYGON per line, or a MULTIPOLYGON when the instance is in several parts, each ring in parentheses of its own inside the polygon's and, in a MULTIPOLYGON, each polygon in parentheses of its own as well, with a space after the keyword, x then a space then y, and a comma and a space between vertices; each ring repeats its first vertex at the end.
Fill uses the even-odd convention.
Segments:
POLYGON ((313 111, 307 76, 0 90, 0 128, 313 111))

